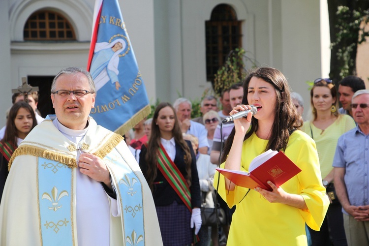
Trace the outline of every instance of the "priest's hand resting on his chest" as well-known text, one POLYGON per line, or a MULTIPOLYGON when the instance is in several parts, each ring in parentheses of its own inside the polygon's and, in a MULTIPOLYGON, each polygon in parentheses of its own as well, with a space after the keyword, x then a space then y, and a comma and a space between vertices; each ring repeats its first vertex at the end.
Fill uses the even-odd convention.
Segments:
POLYGON ((81 154, 78 166, 81 173, 86 174, 97 182, 106 184, 106 186, 112 189, 108 167, 100 157, 89 153, 81 154))

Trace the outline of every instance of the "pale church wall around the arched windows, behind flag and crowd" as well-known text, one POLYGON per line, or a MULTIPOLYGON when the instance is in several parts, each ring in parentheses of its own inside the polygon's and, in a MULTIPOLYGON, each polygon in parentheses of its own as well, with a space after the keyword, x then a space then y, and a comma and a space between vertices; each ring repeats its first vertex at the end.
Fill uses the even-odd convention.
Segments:
MULTIPOLYGON (((274 66, 308 101, 305 81, 321 75, 318 0, 119 0, 127 31, 152 103, 178 94, 196 99, 206 81, 205 21, 217 4, 231 5, 242 25, 246 55, 274 66)), ((87 65, 94 0, 0 1, 0 116, 21 77, 55 75, 87 65), (39 9, 56 10, 72 24, 77 42, 23 42, 23 28, 39 9), (10 62, 9 62, 10 61, 10 62), (10 72, 9 72, 10 71, 10 72)), ((5 109, 4 109, 5 108, 5 109)), ((0 123, 4 124, 0 117, 0 123)))

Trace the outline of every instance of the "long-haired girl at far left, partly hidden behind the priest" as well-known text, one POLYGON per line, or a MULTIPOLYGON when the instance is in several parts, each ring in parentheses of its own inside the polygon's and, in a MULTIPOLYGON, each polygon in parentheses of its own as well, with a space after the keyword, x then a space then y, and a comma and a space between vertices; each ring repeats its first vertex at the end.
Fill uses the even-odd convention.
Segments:
POLYGON ((0 141, 0 201, 5 181, 8 176, 8 162, 18 145, 37 125, 34 111, 25 101, 14 103, 6 121, 5 134, 0 141))

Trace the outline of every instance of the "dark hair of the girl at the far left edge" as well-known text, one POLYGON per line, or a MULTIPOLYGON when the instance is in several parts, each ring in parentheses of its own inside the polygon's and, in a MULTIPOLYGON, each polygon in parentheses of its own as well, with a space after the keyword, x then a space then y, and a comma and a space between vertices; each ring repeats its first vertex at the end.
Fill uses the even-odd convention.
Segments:
POLYGON ((11 145, 13 145, 14 147, 18 147, 17 146, 17 137, 18 136, 18 129, 15 126, 15 118, 17 117, 18 111, 19 109, 24 108, 26 109, 32 117, 32 126, 31 126, 31 130, 37 125, 37 121, 36 121, 36 117, 34 115, 34 111, 32 109, 32 107, 30 106, 30 104, 28 104, 25 101, 19 101, 13 104, 13 106, 10 108, 9 111, 9 116, 8 119, 6 121, 6 129, 5 129, 5 134, 4 134, 4 138, 1 139, 1 142, 8 142, 11 145))

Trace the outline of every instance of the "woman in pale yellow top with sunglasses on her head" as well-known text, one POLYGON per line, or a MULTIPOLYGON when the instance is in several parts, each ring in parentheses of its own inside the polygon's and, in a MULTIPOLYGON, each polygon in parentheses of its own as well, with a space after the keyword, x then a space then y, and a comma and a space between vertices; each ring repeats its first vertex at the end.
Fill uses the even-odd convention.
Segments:
MULTIPOLYGON (((312 120, 304 123, 302 130, 316 144, 319 155, 320 171, 323 185, 327 192, 333 189, 334 169, 332 167, 338 138, 354 128, 355 122, 348 115, 338 113, 337 90, 332 80, 316 79, 310 91, 312 120)), ((330 194, 330 193, 329 193, 330 194)), ((337 197, 331 197, 331 204, 320 231, 309 228, 313 246, 347 245, 343 228, 342 207, 337 197)))

